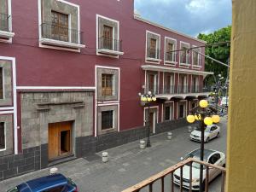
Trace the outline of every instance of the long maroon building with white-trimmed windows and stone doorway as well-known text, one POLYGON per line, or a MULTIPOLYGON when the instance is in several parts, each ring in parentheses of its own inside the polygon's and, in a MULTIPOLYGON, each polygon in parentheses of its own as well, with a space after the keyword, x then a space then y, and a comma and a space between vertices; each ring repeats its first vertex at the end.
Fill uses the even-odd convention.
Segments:
POLYGON ((125 0, 0 0, 0 179, 185 125, 208 95, 206 42, 125 0), (182 49, 180 51, 174 51, 182 49), (197 51, 204 53, 204 48, 197 51))

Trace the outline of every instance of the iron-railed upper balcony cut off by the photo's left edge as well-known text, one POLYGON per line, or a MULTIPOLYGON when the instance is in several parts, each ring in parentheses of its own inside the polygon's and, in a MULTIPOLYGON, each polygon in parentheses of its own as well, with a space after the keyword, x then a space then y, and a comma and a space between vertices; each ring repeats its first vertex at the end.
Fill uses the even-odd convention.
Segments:
POLYGON ((10 28, 11 16, 0 13, 0 38, 13 38, 14 32, 10 28))

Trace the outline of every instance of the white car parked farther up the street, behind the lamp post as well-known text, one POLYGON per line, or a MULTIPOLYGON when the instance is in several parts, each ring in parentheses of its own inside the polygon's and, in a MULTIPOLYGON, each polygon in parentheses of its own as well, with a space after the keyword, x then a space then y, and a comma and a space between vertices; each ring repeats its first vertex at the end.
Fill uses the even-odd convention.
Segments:
MULTIPOLYGON (((190 133, 190 140, 201 142, 201 128, 196 128, 190 133)), ((205 142, 208 143, 212 138, 219 137, 220 128, 218 125, 207 125, 205 130, 205 142)))

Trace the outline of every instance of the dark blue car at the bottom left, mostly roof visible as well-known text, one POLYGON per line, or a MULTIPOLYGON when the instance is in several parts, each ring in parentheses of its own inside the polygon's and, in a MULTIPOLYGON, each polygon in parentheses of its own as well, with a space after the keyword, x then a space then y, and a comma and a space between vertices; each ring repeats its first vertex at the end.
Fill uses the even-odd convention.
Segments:
POLYGON ((62 174, 39 177, 26 183, 21 183, 7 192, 79 192, 76 183, 62 174))

